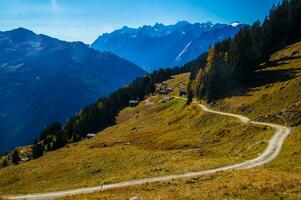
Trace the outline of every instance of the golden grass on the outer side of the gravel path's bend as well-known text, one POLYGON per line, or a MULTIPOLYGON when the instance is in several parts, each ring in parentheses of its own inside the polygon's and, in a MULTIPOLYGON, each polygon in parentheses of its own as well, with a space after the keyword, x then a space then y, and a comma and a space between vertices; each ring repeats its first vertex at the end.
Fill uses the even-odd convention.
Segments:
POLYGON ((274 53, 263 67, 246 93, 213 106, 291 126, 293 132, 275 161, 255 169, 66 199, 301 199, 301 42, 274 53))

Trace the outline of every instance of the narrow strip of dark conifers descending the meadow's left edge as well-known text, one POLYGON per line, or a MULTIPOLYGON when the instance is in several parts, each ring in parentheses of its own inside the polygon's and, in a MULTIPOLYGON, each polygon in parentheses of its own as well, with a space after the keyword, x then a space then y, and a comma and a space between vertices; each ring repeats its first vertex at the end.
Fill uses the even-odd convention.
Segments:
POLYGON ((137 78, 110 96, 83 108, 75 116, 69 118, 65 125, 59 122, 50 124, 34 141, 33 158, 41 157, 44 152, 59 149, 68 143, 78 142, 86 138, 88 133, 97 133, 114 125, 116 116, 128 106, 130 100, 143 100, 145 96, 155 92, 156 83, 170 79, 172 75, 189 72, 193 64, 191 62, 182 67, 160 69, 137 78))

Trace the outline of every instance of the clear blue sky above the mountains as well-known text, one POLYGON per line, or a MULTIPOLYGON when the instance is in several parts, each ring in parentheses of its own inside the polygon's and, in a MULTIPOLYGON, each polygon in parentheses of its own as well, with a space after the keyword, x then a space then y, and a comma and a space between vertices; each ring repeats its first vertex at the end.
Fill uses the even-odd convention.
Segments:
POLYGON ((0 30, 31 29, 67 41, 93 42, 125 25, 177 21, 252 23, 280 0, 1 0, 0 30), (264 3, 263 3, 264 2, 264 3))

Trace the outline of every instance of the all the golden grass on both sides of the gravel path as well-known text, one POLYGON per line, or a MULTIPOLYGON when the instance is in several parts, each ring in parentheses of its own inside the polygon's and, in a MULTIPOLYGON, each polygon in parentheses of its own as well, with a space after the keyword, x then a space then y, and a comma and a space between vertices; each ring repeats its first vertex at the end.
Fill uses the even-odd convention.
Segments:
MULTIPOLYGON (((301 199, 300 52, 298 43, 275 53, 273 65, 257 74, 262 78, 262 71, 273 77, 276 73, 281 80, 274 77, 267 83, 262 79, 245 95, 214 105, 252 119, 292 126, 293 133, 275 161, 256 169, 69 198, 301 199), (286 77, 287 70, 293 76, 286 77)), ((176 88, 187 78, 187 74, 176 76, 169 84, 176 88)), ((207 114, 181 100, 162 104, 161 97, 149 98, 153 105, 142 102, 126 108, 118 125, 91 140, 0 170, 0 193, 54 191, 215 167, 255 157, 271 136, 269 129, 207 114)))

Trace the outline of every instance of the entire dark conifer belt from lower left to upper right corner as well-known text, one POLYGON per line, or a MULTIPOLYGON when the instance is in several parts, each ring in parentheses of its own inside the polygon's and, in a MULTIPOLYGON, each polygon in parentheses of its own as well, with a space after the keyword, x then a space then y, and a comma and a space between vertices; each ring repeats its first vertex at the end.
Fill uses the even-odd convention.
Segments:
POLYGON ((136 79, 106 98, 83 108, 65 125, 55 122, 45 127, 32 146, 33 157, 64 147, 114 125, 117 114, 131 99, 142 100, 155 91, 155 84, 172 75, 190 72, 192 96, 212 102, 243 90, 253 80, 259 64, 273 51, 301 39, 301 1, 284 0, 274 6, 263 23, 242 28, 234 38, 218 42, 208 53, 182 67, 160 69, 136 79))

